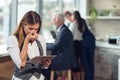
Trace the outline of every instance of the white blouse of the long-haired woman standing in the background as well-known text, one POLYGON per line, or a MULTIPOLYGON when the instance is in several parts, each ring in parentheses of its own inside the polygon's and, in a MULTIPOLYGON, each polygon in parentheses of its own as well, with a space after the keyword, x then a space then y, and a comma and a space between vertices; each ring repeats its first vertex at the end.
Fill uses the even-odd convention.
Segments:
POLYGON ((69 29, 73 34, 73 40, 83 40, 82 33, 78 30, 78 23, 76 21, 70 23, 69 29))

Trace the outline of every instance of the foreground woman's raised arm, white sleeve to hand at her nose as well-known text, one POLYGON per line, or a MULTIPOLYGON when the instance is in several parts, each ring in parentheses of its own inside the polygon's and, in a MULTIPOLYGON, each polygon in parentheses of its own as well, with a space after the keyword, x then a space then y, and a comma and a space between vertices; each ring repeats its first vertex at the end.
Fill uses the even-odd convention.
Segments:
POLYGON ((18 47, 18 40, 16 36, 12 35, 8 38, 8 53, 10 54, 10 57, 19 69, 21 67, 24 67, 26 64, 29 41, 37 39, 37 36, 37 33, 35 35, 31 35, 31 33, 28 34, 24 40, 21 51, 18 47))

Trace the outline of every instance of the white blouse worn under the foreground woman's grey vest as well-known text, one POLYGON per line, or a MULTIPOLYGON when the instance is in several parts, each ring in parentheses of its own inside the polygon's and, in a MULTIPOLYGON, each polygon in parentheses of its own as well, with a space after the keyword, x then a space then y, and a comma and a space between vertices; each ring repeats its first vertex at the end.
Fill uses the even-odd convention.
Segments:
MULTIPOLYGON (((43 55, 46 55, 46 42, 45 42, 44 37, 39 35, 37 40, 40 41, 40 43, 42 45, 43 55)), ((7 44, 8 44, 8 52, 10 54, 10 57, 12 58, 15 65, 20 69, 20 64, 21 64, 21 59, 19 56, 20 49, 18 47, 18 40, 17 40, 16 36, 14 36, 14 35, 9 36, 7 44)), ((31 43, 28 44, 28 51, 27 52, 28 52, 28 57, 30 59, 32 59, 36 56, 40 56, 36 41, 34 41, 32 44, 31 43)), ((14 77, 14 80, 21 80, 15 76, 13 76, 13 77, 14 77)), ((32 76, 30 78, 30 80, 44 80, 44 76, 41 75, 40 79, 37 79, 35 76, 32 76)))

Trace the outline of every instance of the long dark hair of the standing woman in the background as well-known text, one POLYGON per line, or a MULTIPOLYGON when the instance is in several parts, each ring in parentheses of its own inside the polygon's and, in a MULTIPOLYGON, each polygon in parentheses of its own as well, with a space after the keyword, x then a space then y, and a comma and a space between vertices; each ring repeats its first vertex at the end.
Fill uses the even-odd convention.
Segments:
POLYGON ((83 31, 83 22, 82 22, 82 18, 80 16, 80 13, 78 11, 74 11, 73 12, 73 16, 74 16, 74 19, 78 23, 78 29, 79 29, 79 31, 82 32, 83 31))

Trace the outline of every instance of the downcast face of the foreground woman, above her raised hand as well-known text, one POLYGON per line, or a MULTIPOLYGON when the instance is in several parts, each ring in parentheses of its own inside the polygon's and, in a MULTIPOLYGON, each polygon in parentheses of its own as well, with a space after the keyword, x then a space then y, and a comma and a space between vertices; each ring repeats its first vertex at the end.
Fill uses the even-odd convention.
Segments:
POLYGON ((24 31, 25 31, 25 34, 28 35, 31 31, 33 32, 38 32, 38 29, 39 29, 39 23, 36 23, 34 25, 25 25, 23 28, 24 28, 24 31))

